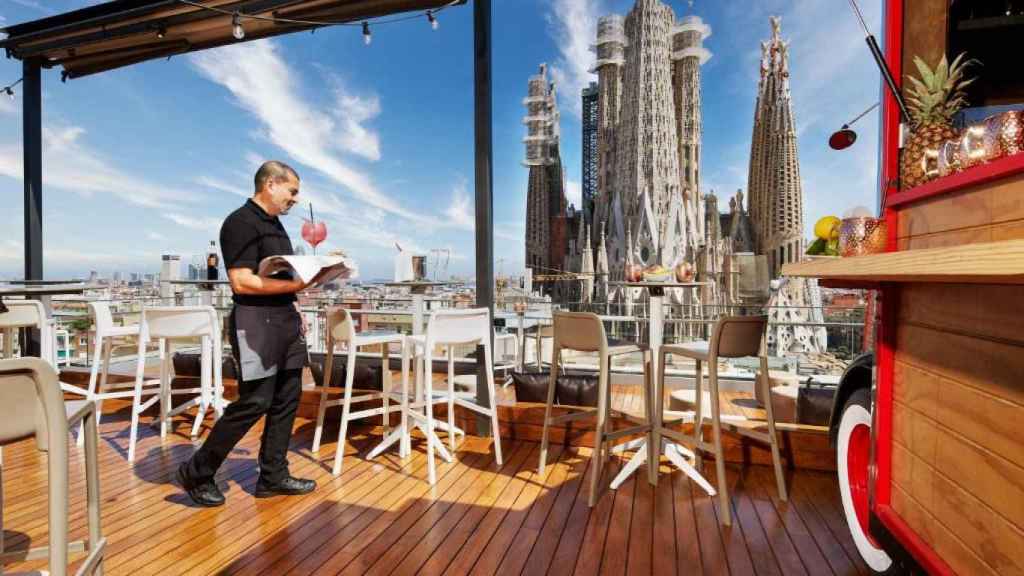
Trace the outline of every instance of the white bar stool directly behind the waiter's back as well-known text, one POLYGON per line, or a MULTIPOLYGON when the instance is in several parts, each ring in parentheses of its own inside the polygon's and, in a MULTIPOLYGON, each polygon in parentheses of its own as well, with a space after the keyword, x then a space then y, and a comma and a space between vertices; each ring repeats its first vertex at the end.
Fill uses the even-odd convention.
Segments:
POLYGON ((193 406, 198 406, 191 437, 199 435, 206 411, 213 409, 215 417, 224 413, 223 381, 220 368, 223 349, 220 344, 220 321, 213 306, 158 306, 142 311, 138 337, 138 362, 135 369, 135 389, 132 394, 131 437, 128 442, 128 461, 135 461, 135 441, 138 437, 138 416, 160 401, 160 438, 167 437, 167 423, 171 417, 193 406), (170 341, 200 339, 200 387, 171 389, 170 341), (160 380, 156 388, 144 385, 145 346, 153 340, 160 341, 160 380), (212 353, 212 354, 211 354, 212 353), (211 361, 211 356, 212 361, 211 361), (145 403, 142 394, 153 395, 145 403), (171 409, 171 396, 199 394, 198 397, 171 409))

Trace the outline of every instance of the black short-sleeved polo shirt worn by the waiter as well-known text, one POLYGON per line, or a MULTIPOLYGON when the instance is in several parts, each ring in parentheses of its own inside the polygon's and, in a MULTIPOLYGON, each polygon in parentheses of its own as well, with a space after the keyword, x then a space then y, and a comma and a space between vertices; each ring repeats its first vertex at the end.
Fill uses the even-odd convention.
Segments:
MULTIPOLYGON (((252 199, 231 212, 220 227, 220 250, 224 254, 224 270, 247 268, 256 274, 260 261, 267 256, 289 256, 292 241, 278 216, 267 214, 252 199)), ((274 278, 291 280, 287 273, 274 278)), ((291 305, 295 294, 274 294, 257 296, 234 294, 234 303, 250 306, 291 305)))

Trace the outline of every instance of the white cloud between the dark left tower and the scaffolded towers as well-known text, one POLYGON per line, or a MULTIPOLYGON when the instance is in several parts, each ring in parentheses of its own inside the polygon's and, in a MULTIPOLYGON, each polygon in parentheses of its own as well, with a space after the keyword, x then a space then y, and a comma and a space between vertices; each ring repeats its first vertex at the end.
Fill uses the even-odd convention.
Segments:
POLYGON ((551 66, 561 108, 580 118, 583 102, 580 91, 597 76, 590 73, 594 53, 590 45, 597 40, 597 18, 606 12, 602 0, 555 0, 547 14, 549 34, 558 44, 558 59, 551 66))

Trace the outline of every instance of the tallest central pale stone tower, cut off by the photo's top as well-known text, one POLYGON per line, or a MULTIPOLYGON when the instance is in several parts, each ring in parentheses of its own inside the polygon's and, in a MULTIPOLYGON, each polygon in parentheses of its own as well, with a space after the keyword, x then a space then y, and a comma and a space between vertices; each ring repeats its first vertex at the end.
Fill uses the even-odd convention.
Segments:
MULTIPOLYGON (((671 266, 686 256, 685 244, 677 241, 686 231, 672 85, 675 20, 675 12, 660 0, 637 0, 625 20, 628 43, 615 130, 614 194, 622 219, 634 232, 625 248, 644 266, 671 266)), ((612 210, 613 221, 617 213, 612 210)), ((613 233, 620 228, 616 221, 613 233)), ((611 255, 612 269, 622 268, 625 255, 611 255)))

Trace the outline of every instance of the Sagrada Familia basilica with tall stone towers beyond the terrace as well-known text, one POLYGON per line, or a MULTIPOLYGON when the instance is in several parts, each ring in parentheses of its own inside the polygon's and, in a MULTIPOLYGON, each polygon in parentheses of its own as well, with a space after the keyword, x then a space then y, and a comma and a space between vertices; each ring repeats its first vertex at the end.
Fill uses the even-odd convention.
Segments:
MULTIPOLYGON (((788 326, 773 329, 769 343, 776 351, 821 352, 823 328, 792 326, 821 322, 816 284, 769 282, 804 251, 788 43, 781 38, 779 18, 772 17, 771 37, 761 45, 749 208, 737 191, 729 199, 729 211, 720 213, 714 192, 705 194, 700 187, 700 69, 712 56, 703 46, 710 36, 711 28, 700 17, 677 20, 662 0, 636 0, 625 17, 599 19, 593 68, 598 76, 594 208, 575 231, 556 224, 562 234, 574 232, 575 238, 566 240, 562 265, 552 268, 581 275, 575 293, 580 301, 621 302, 630 308, 644 295, 640 289, 616 286, 627 264, 673 269, 687 262, 706 284, 697 290, 672 290, 673 303, 712 314, 728 314, 741 304, 790 306, 771 313, 773 322, 788 326)), ((532 82, 527 100, 535 94, 532 82)), ((553 93, 554 87, 550 90, 553 93)), ((527 120, 532 117, 530 108, 527 120)), ((531 127, 527 161, 530 146, 540 141, 530 139, 534 133, 531 127)), ((530 166, 527 266, 537 252, 530 248, 530 231, 538 224, 530 219, 551 208, 550 202, 532 204, 534 170, 530 166)))

